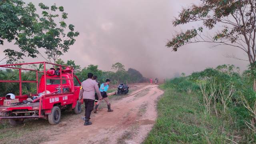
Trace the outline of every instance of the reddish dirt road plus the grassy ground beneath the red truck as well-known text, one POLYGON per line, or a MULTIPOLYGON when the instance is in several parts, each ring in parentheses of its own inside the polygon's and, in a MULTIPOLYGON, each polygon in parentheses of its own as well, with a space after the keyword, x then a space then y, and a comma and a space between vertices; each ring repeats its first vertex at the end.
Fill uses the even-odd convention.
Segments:
MULTIPOLYGON (((143 88, 156 85, 138 84, 129 86, 134 94, 143 88)), ((138 93, 140 94, 140 93, 138 93)), ((163 94, 157 87, 149 88, 141 95, 112 100, 114 112, 102 106, 92 112, 92 125, 84 126, 82 114, 63 112, 61 123, 55 126, 47 120, 28 120, 25 125, 0 128, 0 143, 32 144, 138 144, 143 142, 157 117, 157 98, 163 94), (136 97, 135 97, 136 96, 136 97), (1 137, 2 136, 2 137, 1 137)), ((102 102, 102 105, 105 105, 102 102)))

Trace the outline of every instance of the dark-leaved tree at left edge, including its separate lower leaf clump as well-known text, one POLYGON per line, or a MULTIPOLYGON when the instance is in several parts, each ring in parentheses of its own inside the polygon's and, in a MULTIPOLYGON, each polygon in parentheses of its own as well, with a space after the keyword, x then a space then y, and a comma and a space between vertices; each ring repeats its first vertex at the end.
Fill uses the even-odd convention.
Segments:
MULTIPOLYGON (((27 5, 22 0, 1 0, 0 1, 0 44, 4 45, 4 40, 12 42, 18 40, 20 33, 31 34, 34 32, 32 28, 37 22, 38 14, 35 13, 36 8, 31 2, 27 5)), ((25 52, 31 53, 30 49, 23 49, 20 52, 16 50, 6 49, 4 53, 6 57, 0 62, 7 59, 7 63, 14 63, 25 56, 25 52)), ((33 53, 33 52, 32 52, 33 53)), ((31 57, 35 55, 31 54, 31 57)))

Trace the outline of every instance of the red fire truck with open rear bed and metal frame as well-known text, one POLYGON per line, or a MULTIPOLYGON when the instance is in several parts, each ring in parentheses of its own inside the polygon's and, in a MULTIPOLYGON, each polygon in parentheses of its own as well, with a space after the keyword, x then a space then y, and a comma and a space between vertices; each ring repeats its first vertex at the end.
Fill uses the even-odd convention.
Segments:
POLYGON ((49 62, 6 64, 0 67, 18 70, 19 80, 0 80, 0 82, 17 82, 20 89, 19 95, 15 96, 18 102, 10 106, 3 106, 7 97, 0 97, 0 120, 9 119, 9 123, 16 126, 22 124, 24 119, 44 118, 55 125, 60 122, 61 110, 74 110, 75 114, 81 113, 81 102, 78 100, 81 83, 74 75, 72 67, 49 62), (43 64, 44 70, 21 68, 29 64, 43 64), (49 65, 54 68, 46 70, 49 65), (22 80, 22 70, 34 71, 36 80, 22 80), (22 83, 36 83, 36 93, 23 94, 22 83), (28 102, 28 98, 33 99, 28 102))

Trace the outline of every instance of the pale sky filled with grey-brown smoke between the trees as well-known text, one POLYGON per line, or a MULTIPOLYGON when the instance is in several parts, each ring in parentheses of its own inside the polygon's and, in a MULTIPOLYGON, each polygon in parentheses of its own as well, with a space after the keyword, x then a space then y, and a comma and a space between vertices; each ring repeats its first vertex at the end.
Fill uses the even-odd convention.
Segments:
MULTIPOLYGON (((30 2, 31 0, 26 0, 30 2)), ((121 62, 126 69, 135 68, 146 77, 171 78, 175 73, 204 70, 219 64, 235 64, 242 70, 247 62, 225 58, 234 54, 246 59, 239 49, 228 46, 210 48, 210 44, 186 45, 171 52, 165 47, 168 39, 180 29, 198 27, 193 23, 174 28, 172 20, 182 7, 198 4, 199 0, 33 0, 36 6, 43 2, 50 6, 64 6, 68 24, 80 32, 64 61, 75 60, 81 67, 99 65, 110 70, 112 64, 121 62)), ((15 48, 13 44, 0 46, 15 48)), ((3 53, 0 57, 3 57, 3 53)), ((42 58, 25 58, 25 61, 42 61, 42 58)))

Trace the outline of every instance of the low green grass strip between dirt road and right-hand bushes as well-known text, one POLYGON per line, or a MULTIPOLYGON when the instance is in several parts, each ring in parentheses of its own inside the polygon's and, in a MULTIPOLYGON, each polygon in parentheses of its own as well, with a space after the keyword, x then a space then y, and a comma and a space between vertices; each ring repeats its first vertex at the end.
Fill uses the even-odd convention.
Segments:
POLYGON ((229 122, 204 112, 196 93, 180 93, 172 88, 164 90, 158 102, 156 124, 144 144, 233 143, 234 131, 229 122))

